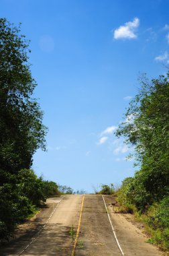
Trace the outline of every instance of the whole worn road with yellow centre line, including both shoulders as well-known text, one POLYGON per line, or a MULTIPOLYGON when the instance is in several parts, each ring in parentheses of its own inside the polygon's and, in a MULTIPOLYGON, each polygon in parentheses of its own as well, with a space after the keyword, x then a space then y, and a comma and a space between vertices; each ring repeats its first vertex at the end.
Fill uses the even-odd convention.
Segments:
POLYGON ((113 197, 104 196, 109 216, 101 195, 84 195, 83 205, 82 197, 66 195, 48 199, 47 207, 36 220, 25 229, 20 228, 15 239, 0 249, 0 255, 70 256, 74 246, 72 236, 76 237, 78 227, 75 255, 162 255, 145 243, 145 235, 131 222, 111 211, 109 204, 113 203, 113 197))

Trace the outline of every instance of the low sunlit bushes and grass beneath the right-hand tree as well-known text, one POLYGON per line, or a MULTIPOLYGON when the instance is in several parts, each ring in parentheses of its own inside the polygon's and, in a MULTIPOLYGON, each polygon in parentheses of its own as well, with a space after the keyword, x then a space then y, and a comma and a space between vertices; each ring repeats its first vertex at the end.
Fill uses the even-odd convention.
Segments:
POLYGON ((144 189, 143 183, 141 181, 139 183, 139 174, 123 181, 117 197, 117 201, 121 204, 120 211, 137 214, 139 220, 146 224, 148 234, 152 236, 148 243, 169 250, 169 196, 164 197, 160 202, 152 203, 151 195, 144 189))

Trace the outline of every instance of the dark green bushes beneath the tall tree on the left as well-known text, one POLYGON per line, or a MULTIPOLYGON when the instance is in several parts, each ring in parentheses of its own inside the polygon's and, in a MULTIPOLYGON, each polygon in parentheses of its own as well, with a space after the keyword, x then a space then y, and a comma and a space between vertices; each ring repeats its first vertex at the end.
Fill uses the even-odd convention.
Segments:
POLYGON ((12 235, 19 222, 34 214, 46 197, 58 194, 58 185, 38 178, 33 170, 18 174, 0 170, 0 239, 12 235))

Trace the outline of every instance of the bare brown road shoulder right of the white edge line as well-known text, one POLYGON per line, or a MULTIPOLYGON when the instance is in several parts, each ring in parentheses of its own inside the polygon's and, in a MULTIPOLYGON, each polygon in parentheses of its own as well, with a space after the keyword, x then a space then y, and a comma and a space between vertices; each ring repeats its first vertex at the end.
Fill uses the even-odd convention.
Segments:
POLYGON ((144 229, 140 224, 133 221, 130 214, 119 214, 113 212, 113 205, 115 204, 115 198, 105 195, 105 201, 109 211, 115 233, 124 255, 130 256, 164 256, 165 253, 160 251, 154 245, 146 243, 148 236, 144 233, 144 229))

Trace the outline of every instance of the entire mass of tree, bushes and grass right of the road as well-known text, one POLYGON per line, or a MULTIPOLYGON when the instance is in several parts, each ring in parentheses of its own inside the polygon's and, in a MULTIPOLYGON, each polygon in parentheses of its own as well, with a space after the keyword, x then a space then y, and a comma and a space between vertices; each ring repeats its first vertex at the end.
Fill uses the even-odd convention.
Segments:
MULTIPOLYGON (((144 222, 146 232, 161 249, 169 250, 169 72, 151 81, 144 75, 131 100, 125 121, 116 131, 135 149, 139 170, 123 181, 121 212, 144 222)), ((130 156, 133 157, 133 156, 130 156)))

